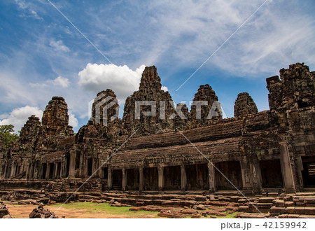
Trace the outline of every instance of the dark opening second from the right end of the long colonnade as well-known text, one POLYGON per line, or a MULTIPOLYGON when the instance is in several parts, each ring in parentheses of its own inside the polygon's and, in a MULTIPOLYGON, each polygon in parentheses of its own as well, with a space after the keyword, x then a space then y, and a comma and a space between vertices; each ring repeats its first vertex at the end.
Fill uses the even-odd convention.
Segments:
POLYGON ((209 189, 208 165, 186 165, 187 190, 209 189))

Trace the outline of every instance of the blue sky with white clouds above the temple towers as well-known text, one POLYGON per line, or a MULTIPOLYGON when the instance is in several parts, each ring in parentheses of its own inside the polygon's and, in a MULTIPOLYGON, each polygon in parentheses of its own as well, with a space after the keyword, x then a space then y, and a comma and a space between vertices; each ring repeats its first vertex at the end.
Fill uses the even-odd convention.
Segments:
POLYGON ((269 109, 265 78, 279 69, 315 70, 314 0, 267 1, 178 91, 265 0, 50 1, 112 64, 49 1, 1 1, 0 125, 20 130, 57 95, 77 131, 100 90, 114 90, 123 106, 144 66, 157 66, 176 103, 208 83, 228 117, 239 92, 269 109))

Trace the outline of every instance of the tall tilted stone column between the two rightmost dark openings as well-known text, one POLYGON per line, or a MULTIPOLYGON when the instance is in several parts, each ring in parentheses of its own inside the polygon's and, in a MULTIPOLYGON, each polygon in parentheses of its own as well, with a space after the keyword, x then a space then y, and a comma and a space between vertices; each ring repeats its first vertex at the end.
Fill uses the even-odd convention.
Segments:
POLYGON ((290 162, 290 153, 288 151, 288 144, 282 141, 280 144, 280 162, 283 176, 283 183, 286 193, 295 193, 295 184, 293 179, 292 167, 290 162))

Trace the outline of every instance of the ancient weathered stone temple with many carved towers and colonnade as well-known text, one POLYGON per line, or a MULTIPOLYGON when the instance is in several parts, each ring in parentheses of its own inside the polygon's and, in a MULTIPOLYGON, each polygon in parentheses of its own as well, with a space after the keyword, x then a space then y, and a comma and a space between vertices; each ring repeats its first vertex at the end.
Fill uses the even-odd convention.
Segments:
POLYGON ((122 119, 113 118, 116 94, 104 90, 76 135, 65 100, 52 97, 41 122, 30 115, 8 151, 0 139, 0 189, 69 193, 90 178, 80 192, 302 192, 315 187, 314 77, 300 63, 281 69, 280 78, 267 78, 269 111, 258 112, 249 94, 240 93, 235 118, 223 119, 209 85, 200 86, 193 102, 203 103, 189 111, 174 105, 150 66, 122 119))

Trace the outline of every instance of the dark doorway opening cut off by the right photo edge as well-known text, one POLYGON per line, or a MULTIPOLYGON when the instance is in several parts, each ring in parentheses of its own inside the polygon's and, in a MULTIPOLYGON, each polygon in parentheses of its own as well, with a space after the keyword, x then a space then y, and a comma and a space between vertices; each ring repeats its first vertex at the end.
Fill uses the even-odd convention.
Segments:
POLYGON ((315 187, 315 157, 302 158, 303 163, 303 184, 304 187, 315 187))

